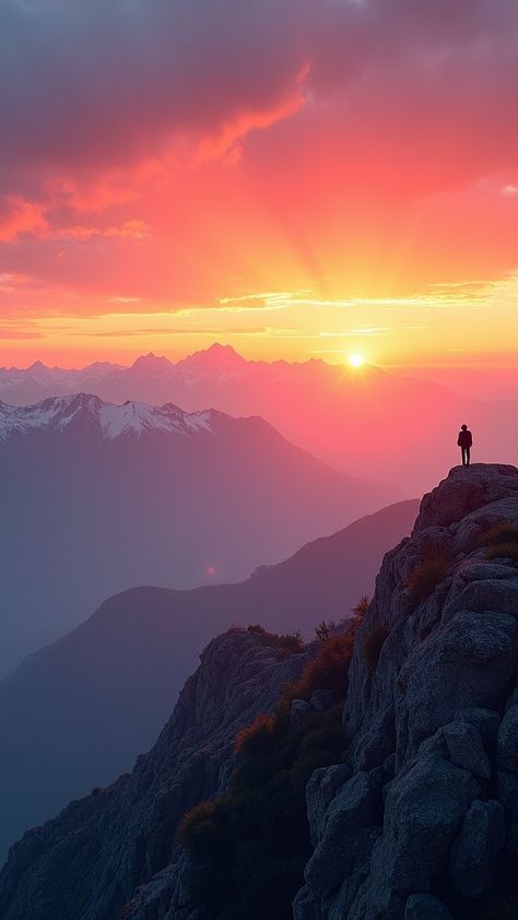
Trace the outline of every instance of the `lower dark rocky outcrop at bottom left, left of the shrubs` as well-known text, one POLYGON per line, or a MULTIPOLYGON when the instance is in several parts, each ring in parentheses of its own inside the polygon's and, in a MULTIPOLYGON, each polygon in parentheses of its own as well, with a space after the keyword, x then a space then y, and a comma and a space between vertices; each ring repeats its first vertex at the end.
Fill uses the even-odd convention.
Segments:
POLYGON ((311 653, 309 647, 282 660, 244 629, 214 639, 133 772, 71 802, 11 849, 0 875, 2 920, 115 920, 139 886, 125 916, 165 917, 173 896, 181 911, 167 916, 189 916, 178 821, 226 788, 237 732, 275 708, 283 684, 311 653))

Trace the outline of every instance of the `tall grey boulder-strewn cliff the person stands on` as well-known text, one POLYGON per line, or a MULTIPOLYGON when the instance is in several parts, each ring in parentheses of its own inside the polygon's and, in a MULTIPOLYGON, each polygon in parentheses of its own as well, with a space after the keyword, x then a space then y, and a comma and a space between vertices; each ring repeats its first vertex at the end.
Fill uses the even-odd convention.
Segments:
POLYGON ((518 524, 518 471, 457 468, 386 556, 349 672, 344 763, 307 788, 296 920, 464 918, 516 859, 518 571, 484 546, 503 523, 518 524))

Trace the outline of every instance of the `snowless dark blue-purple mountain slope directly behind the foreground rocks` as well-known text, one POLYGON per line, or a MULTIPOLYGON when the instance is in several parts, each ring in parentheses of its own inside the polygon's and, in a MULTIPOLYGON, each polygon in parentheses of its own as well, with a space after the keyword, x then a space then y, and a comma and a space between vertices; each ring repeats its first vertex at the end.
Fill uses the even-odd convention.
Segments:
POLYGON ((416 509, 385 508, 242 583, 126 591, 26 659, 0 683, 0 851, 132 765, 217 633, 260 622, 310 636, 320 620, 349 615, 416 509))

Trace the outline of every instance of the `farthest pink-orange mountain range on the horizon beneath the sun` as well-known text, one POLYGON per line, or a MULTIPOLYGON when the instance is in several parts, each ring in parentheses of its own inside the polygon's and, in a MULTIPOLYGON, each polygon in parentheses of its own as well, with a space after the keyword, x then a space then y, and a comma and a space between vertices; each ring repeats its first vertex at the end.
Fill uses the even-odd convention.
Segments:
MULTIPOLYGON (((186 411, 213 406, 231 415, 260 415, 293 444, 348 474, 391 482, 404 495, 431 486, 457 459, 462 423, 474 435, 473 457, 513 462, 516 403, 460 396, 437 381, 351 368, 320 359, 246 361, 214 344, 177 363, 153 354, 131 367, 96 363, 83 370, 0 370, 0 398, 26 404, 81 390, 105 400, 174 402, 186 411)), ((469 390, 469 377, 459 378, 469 390)))

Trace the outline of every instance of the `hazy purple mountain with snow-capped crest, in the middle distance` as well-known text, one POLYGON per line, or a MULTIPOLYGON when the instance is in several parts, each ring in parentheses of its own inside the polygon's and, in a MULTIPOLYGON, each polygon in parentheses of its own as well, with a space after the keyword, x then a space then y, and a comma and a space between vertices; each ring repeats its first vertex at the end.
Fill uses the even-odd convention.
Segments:
POLYGON ((257 417, 0 404, 0 675, 138 585, 246 578, 389 504, 257 417))

